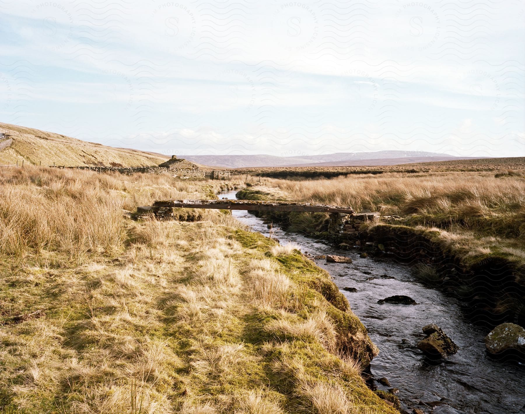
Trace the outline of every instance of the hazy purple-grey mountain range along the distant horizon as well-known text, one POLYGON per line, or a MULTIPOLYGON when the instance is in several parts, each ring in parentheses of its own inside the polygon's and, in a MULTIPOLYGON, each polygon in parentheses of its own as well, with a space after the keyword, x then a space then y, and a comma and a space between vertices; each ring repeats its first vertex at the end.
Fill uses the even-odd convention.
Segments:
POLYGON ((359 165, 394 165, 429 161, 466 160, 484 157, 455 157, 424 151, 375 151, 375 152, 338 152, 323 155, 295 155, 280 157, 276 155, 182 155, 188 161, 214 167, 310 167, 310 166, 359 166, 359 165))

